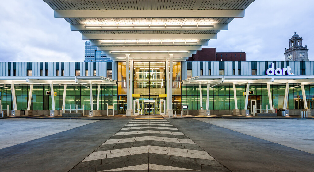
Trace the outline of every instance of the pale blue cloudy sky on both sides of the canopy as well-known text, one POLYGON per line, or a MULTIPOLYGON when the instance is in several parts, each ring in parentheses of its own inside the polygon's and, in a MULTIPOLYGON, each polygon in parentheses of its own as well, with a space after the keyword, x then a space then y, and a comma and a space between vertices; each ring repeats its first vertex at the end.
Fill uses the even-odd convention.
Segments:
MULTIPOLYGON (((217 52, 246 52, 247 61, 284 60, 284 48, 296 31, 314 50, 312 0, 255 0, 228 31, 220 31, 208 47, 217 52)), ((10 0, 0 6, 0 61, 83 61, 84 40, 55 19, 42 0, 10 0)))

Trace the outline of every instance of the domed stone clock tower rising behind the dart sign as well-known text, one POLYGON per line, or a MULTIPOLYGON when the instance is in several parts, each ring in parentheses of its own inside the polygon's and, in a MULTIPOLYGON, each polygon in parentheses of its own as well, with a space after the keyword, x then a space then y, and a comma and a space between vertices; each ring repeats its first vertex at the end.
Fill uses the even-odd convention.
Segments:
POLYGON ((285 61, 309 61, 307 57, 307 47, 302 46, 302 38, 299 35, 292 35, 289 39, 289 48, 285 48, 284 60, 285 61))

